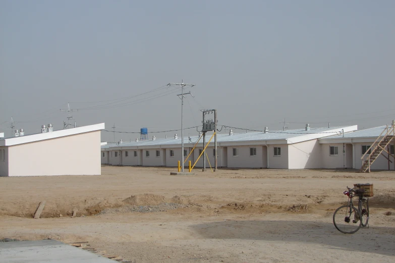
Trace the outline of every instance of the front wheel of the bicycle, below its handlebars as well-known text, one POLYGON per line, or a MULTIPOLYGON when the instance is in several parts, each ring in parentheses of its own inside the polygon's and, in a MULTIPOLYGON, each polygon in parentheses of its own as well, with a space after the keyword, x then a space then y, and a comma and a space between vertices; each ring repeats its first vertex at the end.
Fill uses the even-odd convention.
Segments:
POLYGON ((361 214, 350 206, 342 206, 333 214, 333 224, 336 229, 345 234, 353 234, 362 226, 361 214))

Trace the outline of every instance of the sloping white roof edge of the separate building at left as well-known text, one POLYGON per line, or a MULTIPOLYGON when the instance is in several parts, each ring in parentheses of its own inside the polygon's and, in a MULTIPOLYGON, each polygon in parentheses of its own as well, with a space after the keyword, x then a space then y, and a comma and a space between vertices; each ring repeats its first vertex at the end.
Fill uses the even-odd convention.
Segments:
POLYGON ((95 131, 100 129, 104 129, 104 123, 87 125, 87 126, 70 128, 70 129, 54 130, 51 131, 50 133, 33 134, 33 135, 25 135, 20 137, 0 139, 0 146, 13 146, 19 144, 44 141, 49 139, 65 137, 65 136, 89 133, 90 131, 95 131))

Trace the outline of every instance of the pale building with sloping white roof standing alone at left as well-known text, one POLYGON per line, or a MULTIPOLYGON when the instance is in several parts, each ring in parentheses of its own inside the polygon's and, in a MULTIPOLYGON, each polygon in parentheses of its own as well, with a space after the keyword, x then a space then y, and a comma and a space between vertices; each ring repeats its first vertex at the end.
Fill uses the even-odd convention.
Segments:
POLYGON ((0 176, 100 175, 101 129, 104 123, 43 127, 40 134, 0 139, 0 176))

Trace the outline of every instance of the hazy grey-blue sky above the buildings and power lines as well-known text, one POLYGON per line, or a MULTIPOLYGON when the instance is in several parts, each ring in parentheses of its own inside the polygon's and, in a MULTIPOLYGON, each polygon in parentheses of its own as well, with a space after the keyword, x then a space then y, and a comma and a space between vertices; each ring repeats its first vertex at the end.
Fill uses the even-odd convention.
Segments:
POLYGON ((196 84, 185 127, 201 124, 203 107, 219 124, 259 130, 284 118, 300 122, 289 128, 385 125, 394 14, 395 1, 0 0, 0 131, 11 134, 11 116, 26 134, 60 129, 67 102, 77 125, 177 129, 181 100, 164 85, 182 79, 196 84))

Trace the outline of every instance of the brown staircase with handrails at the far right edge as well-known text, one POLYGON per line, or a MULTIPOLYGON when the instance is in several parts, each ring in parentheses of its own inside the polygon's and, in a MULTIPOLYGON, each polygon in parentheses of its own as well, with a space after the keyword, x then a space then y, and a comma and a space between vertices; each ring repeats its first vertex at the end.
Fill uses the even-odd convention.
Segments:
POLYGON ((388 125, 384 128, 381 134, 377 137, 376 141, 369 147, 369 149, 362 155, 362 167, 360 172, 370 172, 370 166, 380 155, 384 156, 389 162, 392 163, 391 160, 388 159, 382 152, 386 152, 389 156, 391 156, 395 160, 395 156, 390 154, 387 150, 389 148, 390 143, 394 144, 395 147, 395 120, 392 121, 391 126, 388 125), (387 149, 385 149, 388 146, 387 149), (370 154, 369 153, 370 150, 370 154), (366 156, 366 160, 365 160, 366 156))

